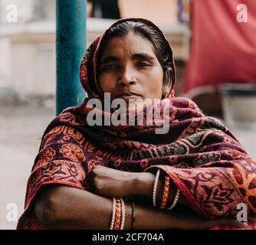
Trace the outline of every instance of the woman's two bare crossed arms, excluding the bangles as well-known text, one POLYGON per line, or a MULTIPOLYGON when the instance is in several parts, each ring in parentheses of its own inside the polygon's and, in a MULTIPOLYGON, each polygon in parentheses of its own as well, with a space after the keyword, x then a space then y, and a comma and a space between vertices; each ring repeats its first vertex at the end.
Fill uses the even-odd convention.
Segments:
MULTIPOLYGON (((87 178, 89 191, 64 185, 45 187, 34 202, 34 212, 39 221, 50 229, 109 229, 112 216, 112 197, 130 195, 152 198, 155 175, 150 172, 120 172, 96 166, 87 178)), ((159 179, 156 199, 160 203, 164 179, 159 179)), ((171 200, 176 194, 176 185, 170 185, 171 200)), ((126 223, 124 229, 132 227, 132 207, 126 201, 126 223)), ((186 207, 179 211, 160 210, 152 204, 135 201, 135 229, 207 229, 219 224, 245 227, 231 219, 205 220, 189 208, 180 196, 178 205, 186 207)))

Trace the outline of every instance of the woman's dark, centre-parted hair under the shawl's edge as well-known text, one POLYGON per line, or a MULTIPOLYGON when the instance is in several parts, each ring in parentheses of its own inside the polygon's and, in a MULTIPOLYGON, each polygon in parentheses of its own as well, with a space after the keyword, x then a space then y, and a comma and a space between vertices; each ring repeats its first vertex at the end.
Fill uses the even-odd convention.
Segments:
POLYGON ((107 33, 103 36, 100 44, 99 57, 101 56, 104 47, 111 38, 123 37, 133 31, 135 34, 139 34, 143 38, 151 41, 154 47, 154 52, 156 54, 159 63, 161 64, 164 77, 163 77, 163 91, 162 95, 169 94, 171 87, 173 73, 175 72, 174 64, 172 62, 172 57, 169 53, 169 47, 166 45, 166 41, 163 39, 159 31, 150 27, 147 24, 139 21, 125 21, 120 24, 114 25, 107 33))

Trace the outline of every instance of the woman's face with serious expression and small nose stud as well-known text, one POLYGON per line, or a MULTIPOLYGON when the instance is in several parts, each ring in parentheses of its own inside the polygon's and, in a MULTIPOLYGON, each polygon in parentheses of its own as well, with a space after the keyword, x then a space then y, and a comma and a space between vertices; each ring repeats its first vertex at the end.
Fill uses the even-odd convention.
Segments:
POLYGON ((98 84, 111 100, 143 103, 162 98, 163 71, 146 38, 130 32, 107 42, 99 60, 98 84))

